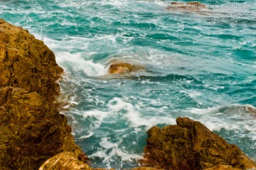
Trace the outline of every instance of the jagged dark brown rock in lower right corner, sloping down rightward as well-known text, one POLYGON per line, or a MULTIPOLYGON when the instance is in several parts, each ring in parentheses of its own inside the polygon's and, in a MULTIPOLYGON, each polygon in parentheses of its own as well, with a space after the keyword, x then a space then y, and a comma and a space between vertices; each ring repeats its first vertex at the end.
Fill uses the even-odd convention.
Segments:
POLYGON ((189 118, 177 118, 176 123, 147 132, 144 166, 175 170, 256 168, 236 145, 229 145, 202 123, 189 118))

